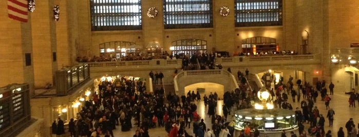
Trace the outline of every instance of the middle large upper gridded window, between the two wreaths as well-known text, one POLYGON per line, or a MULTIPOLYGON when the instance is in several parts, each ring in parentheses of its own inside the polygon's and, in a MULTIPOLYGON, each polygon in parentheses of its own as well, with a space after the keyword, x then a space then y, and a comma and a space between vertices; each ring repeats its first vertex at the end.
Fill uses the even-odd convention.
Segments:
POLYGON ((211 28, 212 9, 212 0, 163 0, 164 28, 211 28))

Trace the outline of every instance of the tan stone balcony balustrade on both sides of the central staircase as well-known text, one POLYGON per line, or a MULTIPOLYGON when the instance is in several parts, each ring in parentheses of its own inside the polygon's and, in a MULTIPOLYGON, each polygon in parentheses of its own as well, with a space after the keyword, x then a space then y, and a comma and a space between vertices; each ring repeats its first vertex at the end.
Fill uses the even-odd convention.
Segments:
MULTIPOLYGON (((278 66, 278 65, 309 65, 320 64, 320 56, 310 55, 277 55, 277 56, 236 56, 228 58, 216 58, 215 64, 226 67, 245 66, 278 66)), ((123 71, 149 71, 181 69, 182 60, 139 60, 139 61, 115 61, 115 62, 88 62, 90 72, 123 72, 123 71)))

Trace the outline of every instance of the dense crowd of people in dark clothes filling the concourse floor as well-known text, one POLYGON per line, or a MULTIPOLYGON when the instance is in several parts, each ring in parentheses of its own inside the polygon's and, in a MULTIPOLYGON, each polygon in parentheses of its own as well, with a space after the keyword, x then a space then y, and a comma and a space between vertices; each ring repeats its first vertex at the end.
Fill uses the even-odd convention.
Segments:
MULTIPOLYGON (((149 75, 154 77, 154 81, 161 81, 162 78, 157 77, 160 76, 160 73, 150 72, 149 75)), ((238 78, 246 78, 248 73, 248 69, 245 73, 238 72, 240 74, 238 78)), ((297 80, 297 89, 295 89, 291 76, 287 84, 284 84, 282 77, 280 79, 280 82, 275 83, 275 87, 270 90, 274 107, 293 109, 288 98, 288 96, 292 96, 293 102, 300 101, 300 108, 295 109, 295 122, 299 127, 299 136, 307 134, 329 136, 331 131, 325 132, 325 121, 327 118, 329 126, 332 126, 335 111, 330 107, 331 98, 327 94, 326 82, 319 81, 312 86, 308 82, 302 84, 300 80, 297 80), (316 98, 319 95, 328 109, 326 115, 319 112, 315 106, 316 98), (300 100, 300 97, 303 97, 303 100, 300 100), (309 124, 308 130, 304 129, 306 123, 309 124)), ((334 85, 331 84, 329 85, 330 94, 333 94, 334 85)), ((78 115, 70 120, 69 132, 71 136, 114 136, 112 130, 118 127, 121 128, 121 131, 136 128, 134 136, 143 137, 149 136, 150 128, 164 128, 169 137, 202 137, 205 134, 212 135, 212 137, 233 136, 235 122, 228 116, 238 109, 251 108, 252 102, 259 101, 256 95, 257 90, 249 89, 248 84, 243 82, 239 88, 224 92, 223 97, 218 97, 216 92, 207 96, 201 95, 199 91, 188 91, 186 96, 168 95, 165 104, 163 89, 149 94, 146 92, 144 81, 126 77, 115 81, 105 80, 99 84, 99 93, 93 94, 92 99, 84 103, 78 115), (218 115, 216 111, 219 99, 223 99, 222 115, 218 115), (211 119, 212 125, 206 125, 203 118, 197 113, 196 102, 201 100, 203 100, 204 106, 208 107, 207 115, 211 119), (190 129, 193 130, 194 135, 188 133, 190 129)), ((357 94, 351 93, 350 99, 357 99, 357 94)), ((355 106, 352 102, 350 103, 350 106, 355 106)), ((59 119, 59 121, 62 120, 59 119)), ((53 133, 64 132, 59 130, 63 124, 58 123, 60 126, 56 125, 54 121, 53 133)), ((354 135, 357 132, 352 119, 347 122, 345 128, 347 134, 354 135)), ((340 133, 342 131, 343 128, 339 129, 340 133)), ((249 124, 240 131, 239 136, 258 136, 259 134, 258 127, 249 124)))

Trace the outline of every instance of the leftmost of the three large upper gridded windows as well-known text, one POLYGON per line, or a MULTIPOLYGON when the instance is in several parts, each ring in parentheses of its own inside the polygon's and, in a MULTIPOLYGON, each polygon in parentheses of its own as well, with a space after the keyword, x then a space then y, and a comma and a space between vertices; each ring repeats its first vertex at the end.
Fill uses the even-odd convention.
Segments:
POLYGON ((142 29, 141 0, 90 0, 91 30, 142 29))

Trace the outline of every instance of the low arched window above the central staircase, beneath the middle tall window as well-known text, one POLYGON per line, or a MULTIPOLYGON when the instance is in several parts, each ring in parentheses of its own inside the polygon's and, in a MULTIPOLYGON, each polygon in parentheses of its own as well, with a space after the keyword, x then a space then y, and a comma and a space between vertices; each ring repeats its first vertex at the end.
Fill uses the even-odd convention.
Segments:
POLYGON ((201 39, 181 39, 172 42, 173 55, 205 53, 207 52, 207 41, 201 39))

